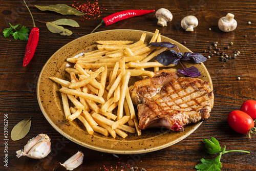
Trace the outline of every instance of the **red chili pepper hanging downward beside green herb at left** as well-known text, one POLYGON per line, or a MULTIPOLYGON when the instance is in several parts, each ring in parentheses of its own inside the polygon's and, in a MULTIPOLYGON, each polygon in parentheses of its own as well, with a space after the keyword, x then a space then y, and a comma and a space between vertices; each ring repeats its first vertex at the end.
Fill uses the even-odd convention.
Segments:
MULTIPOLYGON (((29 10, 29 7, 27 6, 27 3, 25 2, 25 0, 23 1, 29 10)), ((39 40, 39 29, 35 26, 35 21, 30 10, 29 10, 29 13, 32 17, 34 28, 30 31, 30 34, 29 34, 29 40, 26 46, 25 56, 23 58, 23 67, 26 67, 29 64, 32 57, 34 56, 35 49, 37 47, 37 43, 39 40)))

